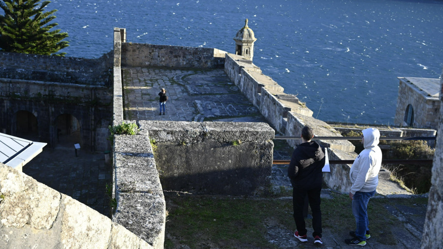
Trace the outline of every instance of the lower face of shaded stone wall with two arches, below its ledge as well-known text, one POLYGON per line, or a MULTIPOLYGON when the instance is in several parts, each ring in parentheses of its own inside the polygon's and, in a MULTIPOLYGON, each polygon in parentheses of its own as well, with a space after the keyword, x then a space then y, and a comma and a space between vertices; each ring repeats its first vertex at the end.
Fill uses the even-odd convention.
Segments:
POLYGON ((80 123, 82 148, 109 150, 106 134, 112 96, 108 87, 0 78, 0 97, 1 132, 15 135, 17 112, 28 111, 37 119, 39 141, 54 146, 57 118, 70 114, 80 123))

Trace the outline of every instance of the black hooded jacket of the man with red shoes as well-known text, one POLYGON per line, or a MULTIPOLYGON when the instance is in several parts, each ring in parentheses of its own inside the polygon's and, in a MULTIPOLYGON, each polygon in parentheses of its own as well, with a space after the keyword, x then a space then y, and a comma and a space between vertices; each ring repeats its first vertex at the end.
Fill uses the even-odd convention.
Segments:
POLYGON ((321 187, 323 177, 321 170, 324 163, 324 148, 317 142, 311 141, 297 146, 287 168, 287 176, 291 179, 292 187, 321 187))

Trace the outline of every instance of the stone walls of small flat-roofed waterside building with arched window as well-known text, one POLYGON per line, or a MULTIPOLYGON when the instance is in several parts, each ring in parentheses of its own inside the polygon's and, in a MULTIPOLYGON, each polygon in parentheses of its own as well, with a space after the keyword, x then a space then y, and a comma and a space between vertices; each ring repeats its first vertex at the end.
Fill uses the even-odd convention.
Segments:
POLYGON ((441 103, 437 97, 427 96, 411 83, 400 80, 394 124, 404 126, 406 108, 412 105, 414 127, 437 129, 441 103))

